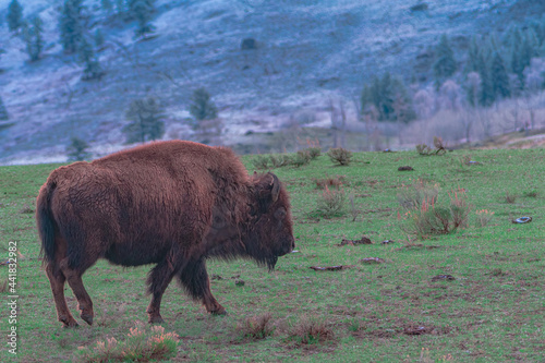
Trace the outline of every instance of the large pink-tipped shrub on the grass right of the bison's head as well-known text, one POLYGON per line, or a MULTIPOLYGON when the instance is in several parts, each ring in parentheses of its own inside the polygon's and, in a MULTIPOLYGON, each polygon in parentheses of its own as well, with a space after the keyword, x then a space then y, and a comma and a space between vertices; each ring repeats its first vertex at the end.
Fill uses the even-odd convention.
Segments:
MULTIPOLYGON (((452 191, 449 196, 450 202, 447 205, 440 205, 437 197, 431 197, 407 208, 404 217, 409 223, 404 231, 425 239, 468 227, 470 208, 465 202, 464 191, 460 189, 452 191)), ((401 219, 401 215, 398 215, 398 219, 401 219)))

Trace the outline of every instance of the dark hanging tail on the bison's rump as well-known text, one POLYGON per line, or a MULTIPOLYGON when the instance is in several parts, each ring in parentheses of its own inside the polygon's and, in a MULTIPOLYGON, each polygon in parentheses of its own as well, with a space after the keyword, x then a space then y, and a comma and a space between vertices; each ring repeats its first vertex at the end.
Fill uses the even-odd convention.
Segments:
POLYGON ((51 195, 56 186, 56 182, 48 181, 39 191, 36 201, 36 222, 41 240, 39 255, 44 258, 44 264, 55 261, 55 219, 51 211, 51 195))

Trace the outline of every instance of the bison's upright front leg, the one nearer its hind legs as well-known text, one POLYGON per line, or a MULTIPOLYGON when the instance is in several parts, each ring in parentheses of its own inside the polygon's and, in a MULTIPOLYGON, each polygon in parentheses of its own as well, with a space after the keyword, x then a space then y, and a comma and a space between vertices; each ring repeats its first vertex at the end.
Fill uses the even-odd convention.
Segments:
POLYGON ((149 324, 159 324, 165 322, 160 313, 161 299, 173 276, 173 268, 167 262, 159 263, 149 273, 147 283, 149 285, 148 292, 152 294, 152 301, 146 310, 149 324))

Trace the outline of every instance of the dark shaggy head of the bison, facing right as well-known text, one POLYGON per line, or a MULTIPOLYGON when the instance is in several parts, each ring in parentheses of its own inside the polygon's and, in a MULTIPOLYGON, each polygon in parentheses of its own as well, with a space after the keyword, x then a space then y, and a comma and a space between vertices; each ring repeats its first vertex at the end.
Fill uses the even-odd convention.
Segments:
POLYGON ((254 176, 252 181, 254 194, 246 252, 272 269, 279 256, 295 247, 288 192, 270 172, 254 176))

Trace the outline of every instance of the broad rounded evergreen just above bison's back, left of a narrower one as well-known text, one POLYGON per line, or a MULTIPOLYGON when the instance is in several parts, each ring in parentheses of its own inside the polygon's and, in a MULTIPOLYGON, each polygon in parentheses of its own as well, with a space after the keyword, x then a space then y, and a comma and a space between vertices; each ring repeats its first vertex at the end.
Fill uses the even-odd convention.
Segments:
POLYGON ((122 129, 128 144, 145 143, 165 134, 164 109, 154 97, 133 100, 125 117, 131 121, 122 129))

